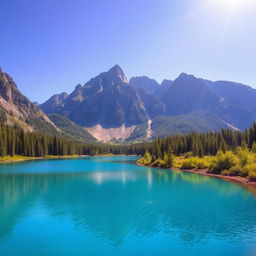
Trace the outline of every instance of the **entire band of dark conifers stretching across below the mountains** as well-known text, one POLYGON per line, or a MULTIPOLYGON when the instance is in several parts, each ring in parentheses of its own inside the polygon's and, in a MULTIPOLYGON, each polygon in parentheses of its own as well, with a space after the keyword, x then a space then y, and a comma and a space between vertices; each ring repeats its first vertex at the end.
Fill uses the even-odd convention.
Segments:
MULTIPOLYGON (((0 156, 23 155, 42 157, 46 155, 144 155, 163 159, 165 153, 181 155, 191 152, 193 156, 216 155, 219 150, 235 150, 242 144, 249 149, 255 146, 256 123, 247 130, 222 129, 218 132, 173 135, 154 141, 134 144, 82 143, 62 136, 51 136, 0 123, 0 156)), ((256 147, 256 146, 255 146, 256 147)))

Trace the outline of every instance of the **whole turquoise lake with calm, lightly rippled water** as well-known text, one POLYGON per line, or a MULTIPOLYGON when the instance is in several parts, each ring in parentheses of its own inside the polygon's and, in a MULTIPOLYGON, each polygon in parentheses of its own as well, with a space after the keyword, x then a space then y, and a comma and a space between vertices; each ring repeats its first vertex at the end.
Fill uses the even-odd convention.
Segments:
POLYGON ((0 255, 256 255, 253 193, 136 159, 1 164, 0 255))

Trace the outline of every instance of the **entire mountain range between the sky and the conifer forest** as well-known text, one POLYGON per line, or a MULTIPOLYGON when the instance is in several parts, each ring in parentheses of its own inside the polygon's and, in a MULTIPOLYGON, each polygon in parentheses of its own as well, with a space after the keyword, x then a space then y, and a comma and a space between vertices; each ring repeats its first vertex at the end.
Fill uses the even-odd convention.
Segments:
POLYGON ((116 65, 70 94, 38 104, 0 70, 0 119, 81 141, 141 141, 190 131, 245 129, 256 119, 256 90, 185 73, 161 84, 146 76, 128 80, 116 65))

